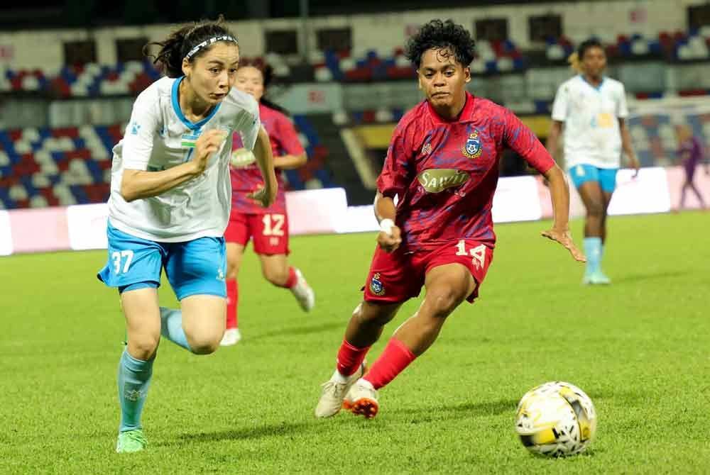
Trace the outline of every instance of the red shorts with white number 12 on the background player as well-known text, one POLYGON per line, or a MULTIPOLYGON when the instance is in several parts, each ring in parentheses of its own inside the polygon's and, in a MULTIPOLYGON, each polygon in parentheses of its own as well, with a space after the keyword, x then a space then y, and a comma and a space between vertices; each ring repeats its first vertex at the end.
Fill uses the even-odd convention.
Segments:
POLYGON ((288 215, 278 213, 246 214, 232 211, 224 231, 226 242, 246 246, 253 239, 254 252, 288 255, 288 215))

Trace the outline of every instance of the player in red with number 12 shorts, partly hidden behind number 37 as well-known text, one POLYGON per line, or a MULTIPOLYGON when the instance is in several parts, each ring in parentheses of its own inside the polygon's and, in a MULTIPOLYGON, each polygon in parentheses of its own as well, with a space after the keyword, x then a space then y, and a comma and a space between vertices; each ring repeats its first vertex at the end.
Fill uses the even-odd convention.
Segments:
MULTIPOLYGON (((277 169, 295 169, 306 162, 306 154, 283 108, 264 97, 271 82, 271 67, 241 66, 236 72, 237 89, 251 94, 259 103, 263 128, 271 139, 273 164, 277 169)), ((238 290, 236 276, 241 257, 249 239, 261 261, 261 272, 275 286, 290 289, 304 311, 310 311, 315 295, 300 270, 288 264, 288 215, 283 178, 276 174, 280 191, 269 208, 258 206, 249 194, 263 186, 254 156, 241 145, 239 134, 234 134, 231 160, 232 203, 229 225, 224 233, 226 240, 227 310, 226 330, 222 345, 234 345, 241 340, 237 328, 238 290)))

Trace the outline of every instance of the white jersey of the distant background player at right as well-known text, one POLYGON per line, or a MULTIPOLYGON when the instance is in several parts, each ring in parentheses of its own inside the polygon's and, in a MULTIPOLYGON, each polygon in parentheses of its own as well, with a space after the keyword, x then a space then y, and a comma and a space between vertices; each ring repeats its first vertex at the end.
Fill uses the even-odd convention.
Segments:
POLYGON ((620 118, 628 116, 623 84, 604 77, 599 87, 584 77, 568 79, 557 89, 552 120, 564 122, 564 161, 618 168, 621 164, 620 118))

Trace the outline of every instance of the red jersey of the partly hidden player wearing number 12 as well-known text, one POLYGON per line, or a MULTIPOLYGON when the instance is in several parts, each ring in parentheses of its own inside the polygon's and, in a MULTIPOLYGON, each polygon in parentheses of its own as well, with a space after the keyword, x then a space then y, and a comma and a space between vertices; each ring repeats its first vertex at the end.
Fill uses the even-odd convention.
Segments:
MULTIPOLYGON (((269 140, 271 140, 271 152, 274 157, 301 155, 303 153, 303 146, 298 140, 293 123, 287 116, 263 104, 259 104, 259 116, 261 117, 261 125, 268 133, 269 140)), ((238 133, 235 133, 232 137, 232 150, 237 150, 241 147, 243 147, 241 145, 241 137, 238 133)), ((276 170, 278 195, 273 205, 268 208, 262 208, 246 197, 249 192, 263 186, 261 172, 259 172, 256 163, 241 168, 231 167, 230 172, 232 212, 245 214, 286 213, 286 194, 283 188, 283 177, 278 170, 276 170)))

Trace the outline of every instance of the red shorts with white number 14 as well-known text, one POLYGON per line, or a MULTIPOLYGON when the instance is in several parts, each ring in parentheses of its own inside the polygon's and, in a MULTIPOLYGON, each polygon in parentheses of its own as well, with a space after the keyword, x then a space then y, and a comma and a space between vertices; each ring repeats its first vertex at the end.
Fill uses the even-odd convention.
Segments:
POLYGON ((475 240, 459 240, 435 250, 405 254, 401 250, 388 253, 377 246, 365 283, 368 302, 395 303, 419 296, 424 279, 431 269, 444 264, 463 264, 476 280, 476 289, 466 298, 479 296, 479 287, 486 278, 493 260, 493 250, 475 240))

